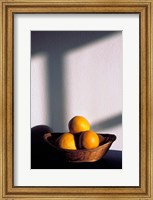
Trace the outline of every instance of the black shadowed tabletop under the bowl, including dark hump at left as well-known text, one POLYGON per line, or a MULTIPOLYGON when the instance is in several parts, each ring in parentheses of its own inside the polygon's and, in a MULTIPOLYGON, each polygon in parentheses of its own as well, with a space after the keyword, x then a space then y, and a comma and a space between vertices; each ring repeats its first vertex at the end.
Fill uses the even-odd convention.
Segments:
POLYGON ((96 162, 69 163, 43 140, 43 135, 50 132, 45 125, 31 129, 31 169, 122 169, 122 151, 109 150, 96 162))

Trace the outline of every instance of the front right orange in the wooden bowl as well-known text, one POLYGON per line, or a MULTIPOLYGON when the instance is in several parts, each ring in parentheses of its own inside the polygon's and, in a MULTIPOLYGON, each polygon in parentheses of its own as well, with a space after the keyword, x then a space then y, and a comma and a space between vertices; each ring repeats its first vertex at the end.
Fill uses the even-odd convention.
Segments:
POLYGON ((94 149, 99 146, 99 136, 94 131, 85 131, 80 135, 80 147, 94 149))

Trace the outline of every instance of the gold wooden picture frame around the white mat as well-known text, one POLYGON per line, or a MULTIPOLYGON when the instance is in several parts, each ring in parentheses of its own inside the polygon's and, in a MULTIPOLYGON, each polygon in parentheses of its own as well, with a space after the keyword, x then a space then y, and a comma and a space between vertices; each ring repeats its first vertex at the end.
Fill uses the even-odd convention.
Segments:
POLYGON ((0 199, 153 199, 153 1, 0 1, 0 199), (17 13, 137 13, 140 16, 139 187, 13 186, 13 16, 17 13))

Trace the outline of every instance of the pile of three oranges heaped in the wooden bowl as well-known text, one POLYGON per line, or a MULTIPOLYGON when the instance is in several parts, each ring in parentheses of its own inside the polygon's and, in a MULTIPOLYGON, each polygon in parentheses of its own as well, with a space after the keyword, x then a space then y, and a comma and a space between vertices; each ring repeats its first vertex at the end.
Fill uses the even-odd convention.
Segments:
POLYGON ((58 138, 61 149, 94 149, 99 146, 99 136, 90 130, 90 124, 82 116, 73 117, 68 124, 69 132, 58 138))

